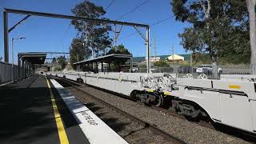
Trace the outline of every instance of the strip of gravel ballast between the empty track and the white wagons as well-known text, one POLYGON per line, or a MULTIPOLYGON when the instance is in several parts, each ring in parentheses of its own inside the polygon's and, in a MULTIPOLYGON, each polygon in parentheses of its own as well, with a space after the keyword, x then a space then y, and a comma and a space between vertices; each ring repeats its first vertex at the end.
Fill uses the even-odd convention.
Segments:
POLYGON ((196 123, 189 122, 182 118, 177 118, 170 114, 150 109, 147 106, 138 105, 137 102, 119 98, 114 94, 97 90, 93 87, 86 86, 82 89, 145 122, 158 126, 159 129, 164 130, 175 137, 181 138, 188 143, 250 143, 241 138, 236 138, 217 130, 199 126, 196 123))

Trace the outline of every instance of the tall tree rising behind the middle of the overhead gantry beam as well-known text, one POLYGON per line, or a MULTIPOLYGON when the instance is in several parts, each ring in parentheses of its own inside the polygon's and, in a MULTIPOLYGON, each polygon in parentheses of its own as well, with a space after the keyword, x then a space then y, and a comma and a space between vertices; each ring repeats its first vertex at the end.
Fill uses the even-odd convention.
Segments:
MULTIPOLYGON (((81 2, 71 10, 78 17, 101 18, 106 14, 102 6, 95 6, 94 3, 81 2)), ((111 47, 112 39, 109 37, 111 26, 106 23, 73 19, 72 25, 78 30, 78 35, 85 39, 86 46, 94 51, 96 56, 105 55, 106 49, 111 47)))

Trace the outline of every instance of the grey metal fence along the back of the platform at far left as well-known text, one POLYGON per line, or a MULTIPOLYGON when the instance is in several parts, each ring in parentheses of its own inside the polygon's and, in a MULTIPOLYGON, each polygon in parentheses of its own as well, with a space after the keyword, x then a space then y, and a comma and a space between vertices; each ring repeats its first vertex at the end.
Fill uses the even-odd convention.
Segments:
MULTIPOLYGON (((19 78, 26 78, 34 74, 32 66, 25 65, 20 67, 18 74, 18 66, 14 65, 14 81, 19 78)), ((12 66, 10 63, 0 62, 0 84, 12 81, 12 66)))

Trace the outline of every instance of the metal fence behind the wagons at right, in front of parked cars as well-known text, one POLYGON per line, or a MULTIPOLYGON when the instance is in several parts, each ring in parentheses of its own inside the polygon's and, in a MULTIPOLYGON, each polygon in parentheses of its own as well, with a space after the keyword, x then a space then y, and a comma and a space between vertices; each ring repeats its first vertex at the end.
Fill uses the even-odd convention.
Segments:
MULTIPOLYGON (((250 65, 230 65, 218 66, 218 74, 214 76, 211 65, 201 66, 179 66, 174 65, 170 67, 153 67, 150 69, 152 73, 170 73, 177 74, 179 78, 184 78, 187 74, 191 74, 193 78, 206 75, 206 78, 219 78, 220 74, 250 74, 250 65)), ((146 73, 146 68, 139 68, 138 72, 146 73)))

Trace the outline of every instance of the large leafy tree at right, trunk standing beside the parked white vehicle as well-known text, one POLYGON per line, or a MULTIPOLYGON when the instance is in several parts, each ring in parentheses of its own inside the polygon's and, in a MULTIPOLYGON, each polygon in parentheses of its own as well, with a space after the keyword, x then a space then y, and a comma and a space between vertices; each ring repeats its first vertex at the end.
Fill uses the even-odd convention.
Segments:
POLYGON ((171 6, 176 20, 192 24, 179 34, 182 46, 185 50, 209 53, 215 77, 219 56, 248 49, 248 42, 242 38, 248 33, 244 1, 173 0, 171 6), (234 39, 239 44, 237 49, 231 44, 234 39))

